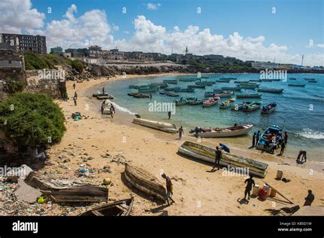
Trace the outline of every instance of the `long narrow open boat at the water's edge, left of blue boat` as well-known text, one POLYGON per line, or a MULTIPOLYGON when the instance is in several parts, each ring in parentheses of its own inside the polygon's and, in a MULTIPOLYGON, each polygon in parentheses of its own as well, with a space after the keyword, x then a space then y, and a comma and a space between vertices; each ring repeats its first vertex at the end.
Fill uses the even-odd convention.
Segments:
POLYGON ((237 127, 204 129, 197 133, 197 137, 232 137, 238 135, 245 135, 252 130, 252 124, 245 124, 237 127))

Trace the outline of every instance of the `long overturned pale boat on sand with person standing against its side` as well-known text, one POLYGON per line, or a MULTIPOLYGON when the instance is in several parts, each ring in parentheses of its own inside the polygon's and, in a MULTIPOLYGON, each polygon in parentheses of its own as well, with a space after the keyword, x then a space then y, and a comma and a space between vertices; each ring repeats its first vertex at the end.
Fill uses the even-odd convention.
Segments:
MULTIPOLYGON (((178 148, 178 153, 200 159, 209 163, 215 163, 215 150, 202 144, 193 142, 185 142, 178 148)), ((223 157, 220 160, 221 166, 229 166, 230 168, 237 168, 238 172, 248 172, 254 176, 264 178, 268 172, 268 164, 253 159, 247 159, 239 155, 232 155, 230 153, 222 153, 223 157), (245 170, 243 170, 245 168, 245 170)))

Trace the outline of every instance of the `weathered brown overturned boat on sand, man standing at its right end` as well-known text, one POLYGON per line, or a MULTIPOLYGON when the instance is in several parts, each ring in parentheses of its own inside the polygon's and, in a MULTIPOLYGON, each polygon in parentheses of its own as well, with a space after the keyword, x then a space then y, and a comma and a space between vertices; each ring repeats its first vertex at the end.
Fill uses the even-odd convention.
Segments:
POLYGON ((126 163, 124 178, 126 179, 126 181, 131 183, 131 185, 133 185, 140 191, 143 191, 145 194, 165 201, 165 187, 162 185, 159 179, 150 172, 126 163))

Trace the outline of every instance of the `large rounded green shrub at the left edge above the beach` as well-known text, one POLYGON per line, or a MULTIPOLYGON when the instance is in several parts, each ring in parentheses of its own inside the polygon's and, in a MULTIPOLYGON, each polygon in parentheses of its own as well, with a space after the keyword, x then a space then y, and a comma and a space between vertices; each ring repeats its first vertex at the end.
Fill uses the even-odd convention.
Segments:
POLYGON ((46 94, 16 93, 0 103, 0 123, 8 140, 23 151, 61 141, 64 114, 46 94))

